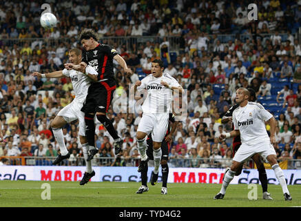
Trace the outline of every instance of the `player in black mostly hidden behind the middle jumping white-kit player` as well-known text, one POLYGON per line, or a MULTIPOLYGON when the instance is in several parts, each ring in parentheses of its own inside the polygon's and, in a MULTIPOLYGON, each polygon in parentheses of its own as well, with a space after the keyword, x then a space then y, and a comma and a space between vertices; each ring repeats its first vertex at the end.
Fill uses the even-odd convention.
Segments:
MULTIPOLYGON (((161 149, 162 149, 162 157, 161 157, 161 170, 162 170, 162 189, 161 194, 165 195, 167 194, 167 178, 169 173, 169 167, 167 164, 168 161, 168 155, 169 155, 169 141, 172 140, 172 135, 174 134, 174 131, 176 131, 176 126, 178 125, 178 121, 175 120, 175 117, 172 113, 169 113, 169 125, 167 128, 166 135, 161 143, 161 149), (169 132, 170 123, 172 123, 172 130, 169 132)), ((154 160, 153 155, 153 140, 152 140, 152 133, 149 134, 149 137, 147 138, 147 160, 144 164, 140 164, 139 167, 141 167, 141 186, 139 187, 138 191, 136 193, 143 193, 148 191, 147 187, 147 171, 148 171, 148 160, 154 160)), ((152 171, 151 175, 151 184, 154 186, 158 180, 158 173, 154 173, 152 171)))

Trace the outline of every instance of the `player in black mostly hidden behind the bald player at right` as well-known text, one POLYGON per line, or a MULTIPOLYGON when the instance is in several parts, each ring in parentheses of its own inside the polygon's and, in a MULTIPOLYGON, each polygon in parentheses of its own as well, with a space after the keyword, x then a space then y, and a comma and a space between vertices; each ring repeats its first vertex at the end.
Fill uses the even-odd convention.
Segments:
MULTIPOLYGON (((250 98, 249 98, 249 102, 256 102, 256 93, 253 89, 248 88, 249 92, 250 92, 250 98)), ((232 114, 233 111, 238 108, 239 104, 235 104, 234 106, 231 106, 231 108, 229 108, 229 111, 227 111, 225 113, 225 115, 222 117, 222 124, 227 124, 227 122, 231 121, 232 119, 232 114)), ((233 127, 233 124, 232 124, 233 127)), ((241 140, 240 140, 240 136, 236 136, 233 137, 233 143, 232 143, 232 156, 235 155, 236 151, 238 151, 238 148, 240 148, 241 145, 241 140)), ((258 169, 258 174, 259 174, 259 180, 262 186, 262 198, 264 200, 273 200, 273 198, 271 198, 271 194, 267 192, 267 172, 265 171, 264 168, 264 164, 262 161, 262 157, 260 157, 260 155, 257 153, 256 155, 253 155, 253 157, 251 157, 253 159, 253 161, 256 163, 257 169, 258 169)), ((227 173, 229 169, 227 169, 225 171, 225 174, 227 173)), ((240 167, 240 169, 236 172, 236 175, 240 175, 240 173, 242 172, 242 166, 240 167)), ((225 177, 225 175, 224 175, 225 177)))

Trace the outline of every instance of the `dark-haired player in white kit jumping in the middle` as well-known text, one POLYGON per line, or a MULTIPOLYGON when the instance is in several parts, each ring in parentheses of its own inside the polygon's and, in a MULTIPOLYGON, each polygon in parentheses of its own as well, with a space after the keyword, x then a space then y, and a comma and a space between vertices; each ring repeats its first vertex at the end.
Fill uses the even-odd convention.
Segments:
POLYGON ((147 142, 146 136, 152 133, 154 148, 154 171, 152 172, 151 183, 156 184, 158 180, 158 169, 160 158, 162 156, 161 142, 165 137, 168 123, 169 112, 172 104, 172 93, 177 90, 183 92, 183 88, 178 81, 169 74, 163 74, 163 61, 155 59, 152 61, 152 74, 136 81, 134 93, 136 90, 147 90, 147 97, 142 105, 143 117, 137 128, 138 150, 141 153, 141 163, 138 166, 138 172, 143 171, 147 164, 147 142))

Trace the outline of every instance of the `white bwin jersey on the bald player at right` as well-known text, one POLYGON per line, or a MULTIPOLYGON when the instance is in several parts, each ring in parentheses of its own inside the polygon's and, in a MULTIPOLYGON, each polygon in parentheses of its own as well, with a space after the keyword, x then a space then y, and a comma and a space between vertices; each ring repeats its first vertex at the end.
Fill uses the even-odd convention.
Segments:
POLYGON ((242 143, 258 144, 269 142, 269 135, 264 122, 271 119, 269 113, 261 104, 248 102, 244 107, 238 106, 233 111, 234 130, 240 131, 242 143))

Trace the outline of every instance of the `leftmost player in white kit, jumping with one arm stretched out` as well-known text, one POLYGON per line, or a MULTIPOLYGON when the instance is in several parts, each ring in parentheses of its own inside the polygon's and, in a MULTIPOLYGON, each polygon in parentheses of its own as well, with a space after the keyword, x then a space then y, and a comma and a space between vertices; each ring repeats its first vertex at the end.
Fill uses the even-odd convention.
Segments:
MULTIPOLYGON (((81 50, 78 48, 73 48, 69 51, 69 59, 72 64, 80 64, 81 62, 81 50)), ((59 164, 62 160, 68 159, 70 153, 65 146, 63 139, 62 128, 65 124, 73 122, 76 119, 79 119, 79 140, 83 146, 83 155, 86 162, 86 172, 81 180, 80 184, 83 185, 95 175, 95 172, 92 170, 92 163, 87 162, 87 155, 89 151, 89 145, 87 143, 87 137, 85 136, 85 114, 81 111, 85 98, 87 97, 87 89, 90 86, 91 81, 97 80, 98 73, 92 66, 87 66, 85 68, 85 73, 81 73, 76 70, 64 70, 55 71, 53 73, 41 74, 34 72, 33 76, 41 77, 51 77, 51 78, 60 78, 60 77, 70 77, 72 81, 73 90, 75 93, 74 100, 65 106, 65 108, 59 111, 58 115, 54 118, 51 123, 52 131, 54 137, 59 144, 61 154, 56 157, 56 160, 52 164, 59 164)))

